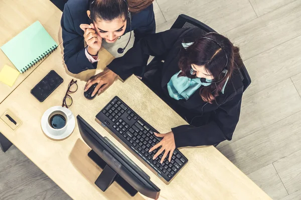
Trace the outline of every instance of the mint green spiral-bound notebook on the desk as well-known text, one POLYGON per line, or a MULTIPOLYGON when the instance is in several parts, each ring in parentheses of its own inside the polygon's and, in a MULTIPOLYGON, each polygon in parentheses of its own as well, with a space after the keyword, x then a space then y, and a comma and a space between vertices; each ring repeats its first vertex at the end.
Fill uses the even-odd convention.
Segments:
POLYGON ((4 44, 1 49, 20 73, 23 73, 49 55, 57 46, 40 21, 36 21, 4 44))

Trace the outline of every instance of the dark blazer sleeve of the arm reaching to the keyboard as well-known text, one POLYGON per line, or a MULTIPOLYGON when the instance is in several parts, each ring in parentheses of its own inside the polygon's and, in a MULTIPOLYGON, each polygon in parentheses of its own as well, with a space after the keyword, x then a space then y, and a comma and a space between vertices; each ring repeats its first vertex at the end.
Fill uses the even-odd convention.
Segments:
POLYGON ((196 127, 180 125, 172 128, 176 147, 213 145, 231 140, 240 114, 242 93, 214 110, 209 123, 196 127))

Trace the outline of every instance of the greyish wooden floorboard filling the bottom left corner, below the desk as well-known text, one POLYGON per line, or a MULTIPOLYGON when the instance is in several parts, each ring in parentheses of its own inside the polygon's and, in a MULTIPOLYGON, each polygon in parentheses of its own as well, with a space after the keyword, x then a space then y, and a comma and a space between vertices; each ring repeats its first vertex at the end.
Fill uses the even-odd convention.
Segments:
POLYGON ((26 199, 56 184, 31 160, 0 172, 1 199, 26 199))

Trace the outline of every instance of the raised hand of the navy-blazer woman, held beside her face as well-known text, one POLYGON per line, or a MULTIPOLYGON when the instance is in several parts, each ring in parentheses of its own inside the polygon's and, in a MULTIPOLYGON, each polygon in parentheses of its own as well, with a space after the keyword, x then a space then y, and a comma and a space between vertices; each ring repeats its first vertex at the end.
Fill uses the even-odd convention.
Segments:
POLYGON ((80 24, 79 26, 84 31, 84 38, 88 45, 88 52, 91 55, 96 55, 101 48, 102 37, 100 37, 94 27, 94 24, 80 24))

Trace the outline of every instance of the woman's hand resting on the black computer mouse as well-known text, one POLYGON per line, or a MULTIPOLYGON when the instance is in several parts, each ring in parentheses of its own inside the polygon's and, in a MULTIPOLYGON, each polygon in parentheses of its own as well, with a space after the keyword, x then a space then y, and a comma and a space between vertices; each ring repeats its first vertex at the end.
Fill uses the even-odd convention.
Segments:
POLYGON ((87 81, 84 91, 87 91, 93 84, 98 83, 92 92, 92 96, 94 96, 97 91, 98 94, 106 90, 111 84, 113 84, 114 80, 116 79, 117 74, 114 73, 110 69, 106 69, 96 75, 93 75, 90 77, 90 79, 87 81))

